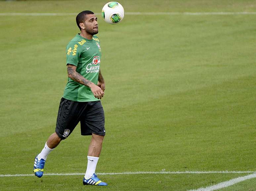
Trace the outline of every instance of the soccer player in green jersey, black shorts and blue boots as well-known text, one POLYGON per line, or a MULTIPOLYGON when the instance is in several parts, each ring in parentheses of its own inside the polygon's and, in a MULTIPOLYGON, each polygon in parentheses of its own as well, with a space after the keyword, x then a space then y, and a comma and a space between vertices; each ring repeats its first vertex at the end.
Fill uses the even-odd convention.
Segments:
POLYGON ((68 82, 60 102, 55 133, 35 157, 35 176, 42 177, 48 154, 66 139, 80 122, 81 135, 92 135, 88 150, 87 169, 83 184, 107 186, 95 174, 105 136, 105 116, 100 99, 104 96, 105 81, 101 74, 101 46, 97 17, 91 11, 76 16, 81 33, 66 47, 68 82))

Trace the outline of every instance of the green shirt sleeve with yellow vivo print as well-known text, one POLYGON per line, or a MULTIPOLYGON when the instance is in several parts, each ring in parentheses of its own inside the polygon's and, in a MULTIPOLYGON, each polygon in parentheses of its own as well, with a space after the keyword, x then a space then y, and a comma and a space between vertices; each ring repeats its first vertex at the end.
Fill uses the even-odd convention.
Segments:
POLYGON ((66 64, 77 66, 82 51, 81 48, 76 41, 68 43, 66 47, 66 64))

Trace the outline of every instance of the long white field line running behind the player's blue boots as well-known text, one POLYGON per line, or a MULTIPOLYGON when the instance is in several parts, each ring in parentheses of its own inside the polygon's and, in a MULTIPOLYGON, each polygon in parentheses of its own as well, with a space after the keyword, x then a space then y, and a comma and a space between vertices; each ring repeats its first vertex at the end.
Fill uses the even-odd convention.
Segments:
MULTIPOLYGON (((242 174, 256 173, 254 171, 160 171, 160 172, 123 172, 123 173, 97 173, 97 175, 137 175, 137 174, 242 174)), ((74 176, 84 173, 45 173, 44 176, 74 176)), ((0 177, 30 177, 34 174, 0 175, 0 177)))

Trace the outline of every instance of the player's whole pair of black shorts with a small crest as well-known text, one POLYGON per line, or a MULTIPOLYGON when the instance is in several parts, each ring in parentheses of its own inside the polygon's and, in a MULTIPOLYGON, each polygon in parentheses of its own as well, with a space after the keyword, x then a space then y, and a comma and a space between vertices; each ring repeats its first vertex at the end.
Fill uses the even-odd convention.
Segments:
POLYGON ((61 98, 55 132, 67 138, 76 125, 81 124, 81 135, 105 136, 105 116, 101 101, 78 102, 61 98))

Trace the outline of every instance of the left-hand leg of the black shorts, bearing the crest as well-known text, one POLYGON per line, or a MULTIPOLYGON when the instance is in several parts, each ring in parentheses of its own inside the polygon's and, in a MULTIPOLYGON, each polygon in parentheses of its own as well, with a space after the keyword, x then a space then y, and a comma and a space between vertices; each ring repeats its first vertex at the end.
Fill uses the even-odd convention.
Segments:
POLYGON ((61 139, 67 138, 79 122, 84 110, 83 103, 61 99, 55 132, 61 139))

